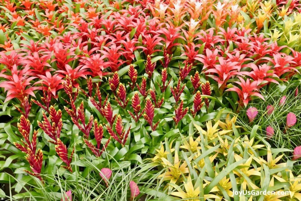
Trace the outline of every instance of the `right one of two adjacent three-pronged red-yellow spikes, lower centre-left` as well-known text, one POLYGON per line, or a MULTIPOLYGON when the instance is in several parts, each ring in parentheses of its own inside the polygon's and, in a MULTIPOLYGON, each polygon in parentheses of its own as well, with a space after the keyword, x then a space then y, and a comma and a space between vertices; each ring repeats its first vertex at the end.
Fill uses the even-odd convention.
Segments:
POLYGON ((114 140, 116 140, 123 146, 126 144, 126 140, 128 139, 130 129, 131 129, 131 125, 127 131, 124 130, 123 125, 122 125, 122 119, 121 119, 120 115, 117 116, 117 120, 116 120, 116 124, 115 124, 115 130, 116 130, 117 134, 113 131, 112 127, 107 126, 107 130, 108 130, 110 136, 113 137, 114 140))

